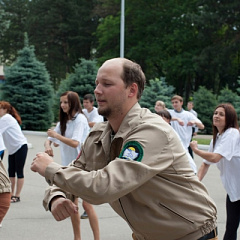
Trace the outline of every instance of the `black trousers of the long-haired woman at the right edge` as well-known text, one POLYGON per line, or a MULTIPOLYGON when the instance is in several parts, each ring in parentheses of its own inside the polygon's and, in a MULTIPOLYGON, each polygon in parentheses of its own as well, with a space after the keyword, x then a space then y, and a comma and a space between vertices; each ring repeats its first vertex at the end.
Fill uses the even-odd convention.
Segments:
POLYGON ((223 240, 237 240, 237 229, 240 221, 240 200, 231 202, 226 200, 227 223, 223 240))

